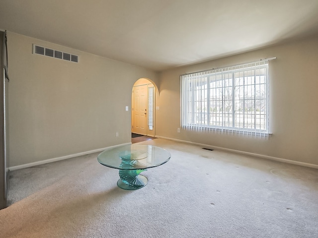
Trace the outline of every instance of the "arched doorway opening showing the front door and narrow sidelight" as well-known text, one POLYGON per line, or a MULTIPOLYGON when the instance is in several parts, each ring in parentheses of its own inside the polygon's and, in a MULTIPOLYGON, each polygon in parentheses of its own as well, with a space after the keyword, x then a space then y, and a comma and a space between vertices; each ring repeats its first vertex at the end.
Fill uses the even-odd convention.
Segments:
POLYGON ((147 78, 138 79, 132 89, 132 133, 155 136, 155 105, 158 89, 154 82, 147 78))

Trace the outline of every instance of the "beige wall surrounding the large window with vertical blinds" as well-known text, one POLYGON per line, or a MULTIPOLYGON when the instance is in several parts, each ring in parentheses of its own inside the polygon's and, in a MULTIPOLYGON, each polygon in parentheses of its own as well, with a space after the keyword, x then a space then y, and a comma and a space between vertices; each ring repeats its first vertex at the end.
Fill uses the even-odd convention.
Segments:
POLYGON ((317 75, 318 37, 164 71, 156 135, 318 165, 317 75), (270 57, 277 57, 269 62, 271 137, 182 129, 177 133, 181 74, 270 57))

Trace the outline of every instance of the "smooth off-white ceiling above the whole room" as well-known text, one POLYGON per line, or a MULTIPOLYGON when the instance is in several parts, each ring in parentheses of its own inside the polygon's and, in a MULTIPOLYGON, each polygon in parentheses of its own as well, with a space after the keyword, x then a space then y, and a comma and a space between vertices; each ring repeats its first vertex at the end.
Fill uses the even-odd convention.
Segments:
POLYGON ((0 0, 0 29, 160 71, 318 33, 318 0, 0 0))

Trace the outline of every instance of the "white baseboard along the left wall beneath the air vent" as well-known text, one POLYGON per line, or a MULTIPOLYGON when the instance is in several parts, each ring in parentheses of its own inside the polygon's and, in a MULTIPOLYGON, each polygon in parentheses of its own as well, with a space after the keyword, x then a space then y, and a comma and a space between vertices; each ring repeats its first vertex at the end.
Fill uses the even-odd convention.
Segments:
POLYGON ((29 164, 12 166, 12 167, 9 167, 9 171, 25 169, 25 168, 29 168, 29 167, 33 167, 33 166, 37 166, 37 165, 44 165, 44 164, 48 164, 48 163, 52 163, 52 162, 56 162, 56 161, 60 161, 60 160, 66 160, 66 159, 70 159, 70 158, 74 158, 74 157, 78 157, 78 156, 82 156, 82 155, 88 155, 88 154, 104 151, 104 150, 107 150, 107 149, 115 148, 115 147, 118 147, 118 146, 130 145, 130 144, 131 144, 131 142, 130 143, 120 144, 120 145, 113 145, 113 146, 100 148, 100 149, 96 149, 96 150, 80 152, 80 153, 77 153, 77 154, 72 154, 72 155, 66 155, 66 156, 62 156, 62 157, 52 158, 52 159, 48 159, 48 160, 41 160, 41 161, 29 163, 29 164))

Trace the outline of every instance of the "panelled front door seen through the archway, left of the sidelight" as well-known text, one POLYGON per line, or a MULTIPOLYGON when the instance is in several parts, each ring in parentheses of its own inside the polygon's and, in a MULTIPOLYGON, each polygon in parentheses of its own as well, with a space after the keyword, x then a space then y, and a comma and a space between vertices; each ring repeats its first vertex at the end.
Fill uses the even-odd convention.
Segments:
POLYGON ((133 87, 132 132, 147 135, 148 85, 133 87))

